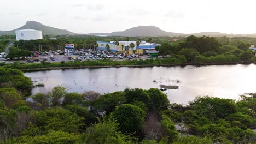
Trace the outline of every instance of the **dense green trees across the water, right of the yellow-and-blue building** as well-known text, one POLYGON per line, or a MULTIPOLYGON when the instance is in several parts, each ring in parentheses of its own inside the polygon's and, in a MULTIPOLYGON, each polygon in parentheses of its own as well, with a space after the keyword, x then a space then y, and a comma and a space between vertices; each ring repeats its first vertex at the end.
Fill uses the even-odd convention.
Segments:
POLYGON ((159 55, 183 55, 188 62, 194 63, 255 62, 255 52, 249 49, 251 44, 237 40, 235 42, 237 44, 234 42, 226 43, 224 38, 216 39, 191 35, 184 41, 172 44, 165 43, 156 49, 159 50, 159 55), (223 43, 219 43, 218 40, 222 40, 223 43))

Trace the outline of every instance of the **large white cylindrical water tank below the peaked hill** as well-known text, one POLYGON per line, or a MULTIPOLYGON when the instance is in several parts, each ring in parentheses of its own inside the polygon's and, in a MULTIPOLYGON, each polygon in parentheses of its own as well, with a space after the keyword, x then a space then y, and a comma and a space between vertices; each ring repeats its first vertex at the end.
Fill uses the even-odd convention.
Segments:
POLYGON ((34 29, 21 29, 15 31, 16 40, 32 40, 32 39, 43 39, 42 31, 37 31, 34 29))

